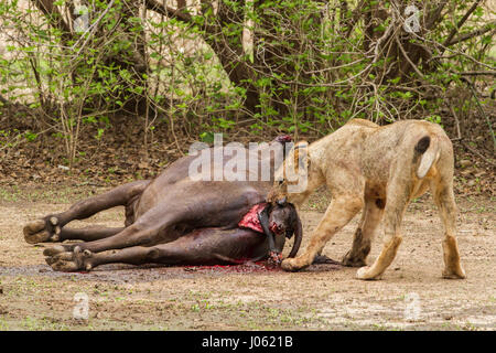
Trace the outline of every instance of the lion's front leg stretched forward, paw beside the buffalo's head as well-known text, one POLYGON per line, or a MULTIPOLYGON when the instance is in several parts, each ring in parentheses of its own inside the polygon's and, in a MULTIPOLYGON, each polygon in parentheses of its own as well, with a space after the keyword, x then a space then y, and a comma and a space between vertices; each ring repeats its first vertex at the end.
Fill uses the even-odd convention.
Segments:
POLYGON ((335 195, 313 232, 305 252, 299 257, 284 259, 281 267, 288 271, 295 271, 310 266, 315 255, 320 254, 333 235, 362 210, 363 204, 363 199, 358 195, 335 195))

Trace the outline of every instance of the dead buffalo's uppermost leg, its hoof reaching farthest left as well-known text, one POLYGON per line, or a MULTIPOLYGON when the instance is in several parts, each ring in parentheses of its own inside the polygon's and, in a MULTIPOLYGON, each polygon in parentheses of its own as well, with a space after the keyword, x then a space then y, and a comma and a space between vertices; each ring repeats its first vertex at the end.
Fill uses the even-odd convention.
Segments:
POLYGON ((140 180, 117 186, 101 195, 76 202, 69 210, 52 214, 28 223, 24 226, 24 239, 30 244, 42 242, 58 242, 64 225, 74 220, 85 220, 94 214, 115 206, 128 206, 136 200, 147 185, 149 180, 140 180))

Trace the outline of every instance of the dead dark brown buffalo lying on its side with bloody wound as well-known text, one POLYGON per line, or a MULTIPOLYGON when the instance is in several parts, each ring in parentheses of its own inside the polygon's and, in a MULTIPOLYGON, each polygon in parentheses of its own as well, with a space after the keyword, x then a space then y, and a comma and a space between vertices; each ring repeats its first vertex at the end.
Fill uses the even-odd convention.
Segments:
POLYGON ((220 162, 215 161, 214 148, 201 151, 212 161, 213 175, 244 156, 244 162, 235 169, 245 181, 192 179, 192 165, 198 157, 186 156, 153 180, 120 185, 77 202, 65 212, 28 223, 24 238, 30 244, 84 240, 44 250, 47 264, 63 271, 89 270, 109 263, 215 265, 266 258, 278 263, 285 237, 294 234, 289 256, 295 256, 302 238, 294 206, 266 203, 273 171, 283 159, 278 153, 284 154, 290 140, 283 136, 259 149, 238 149, 235 156, 223 153, 220 162), (255 164, 258 168, 254 171, 255 164), (263 172, 269 174, 267 180, 260 178, 263 172), (66 226, 115 206, 126 207, 125 227, 66 226))

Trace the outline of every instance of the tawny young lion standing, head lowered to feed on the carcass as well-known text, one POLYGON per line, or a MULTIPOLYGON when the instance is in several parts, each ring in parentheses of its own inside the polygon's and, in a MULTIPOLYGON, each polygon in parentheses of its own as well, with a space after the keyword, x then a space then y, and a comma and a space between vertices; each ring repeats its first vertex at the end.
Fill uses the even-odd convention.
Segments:
POLYGON ((343 264, 360 267, 356 274, 359 279, 379 279, 401 243, 400 225, 407 205, 430 189, 444 226, 443 277, 465 278, 455 237, 453 165, 453 147, 446 133, 439 125, 421 120, 380 127, 353 119, 310 146, 304 141, 296 143, 276 172, 269 201, 281 202, 285 197, 301 205, 325 183, 332 202, 304 254, 284 259, 282 268, 294 271, 312 264, 331 237, 364 208, 352 249, 343 264), (296 163, 300 167, 295 168, 296 163), (289 170, 295 171, 298 179, 290 180, 289 170), (306 185, 291 191, 304 178, 306 185), (382 252, 371 266, 365 266, 382 217, 382 252))

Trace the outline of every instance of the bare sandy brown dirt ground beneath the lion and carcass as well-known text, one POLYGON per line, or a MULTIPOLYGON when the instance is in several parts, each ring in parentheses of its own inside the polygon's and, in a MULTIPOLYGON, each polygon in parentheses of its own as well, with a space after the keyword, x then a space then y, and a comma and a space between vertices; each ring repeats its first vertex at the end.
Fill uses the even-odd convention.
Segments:
MULTIPOLYGON (((384 279, 360 281, 356 268, 332 265, 295 274, 257 264, 55 272, 44 261, 43 245, 24 243, 22 226, 63 211, 76 194, 85 196, 74 189, 0 190, 0 331, 496 329, 494 199, 459 200, 466 280, 441 278, 441 223, 425 196, 410 205, 403 243, 384 279), (86 320, 75 318, 85 313, 78 298, 87 298, 86 320)), ((303 248, 322 210, 310 203, 301 214, 303 248)), ((341 259, 358 217, 327 244, 325 255, 341 259)), ((118 226, 122 220, 123 211, 115 208, 75 223, 118 226)), ((368 263, 380 250, 380 234, 368 263)))

